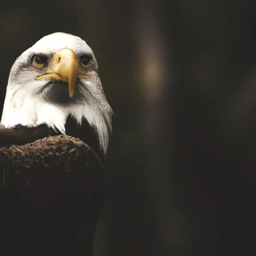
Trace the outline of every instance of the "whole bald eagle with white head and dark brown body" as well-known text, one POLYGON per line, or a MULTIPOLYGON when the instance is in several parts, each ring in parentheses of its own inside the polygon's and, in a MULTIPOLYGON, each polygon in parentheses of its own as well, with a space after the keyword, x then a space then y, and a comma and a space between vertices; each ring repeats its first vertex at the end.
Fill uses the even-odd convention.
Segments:
POLYGON ((0 127, 0 252, 91 255, 112 115, 81 38, 44 36, 17 58, 0 127))

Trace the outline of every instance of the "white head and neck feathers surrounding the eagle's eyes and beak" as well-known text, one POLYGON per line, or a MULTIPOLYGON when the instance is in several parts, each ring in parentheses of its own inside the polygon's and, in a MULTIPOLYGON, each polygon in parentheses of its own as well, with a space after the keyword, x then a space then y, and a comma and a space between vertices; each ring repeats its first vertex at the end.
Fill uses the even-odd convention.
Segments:
POLYGON ((81 124, 85 118, 98 134, 100 148, 106 153, 108 133, 111 132, 112 109, 98 76, 98 64, 92 49, 77 36, 54 33, 44 36, 36 44, 23 52, 14 62, 8 80, 1 124, 6 128, 17 124, 37 126, 47 124, 65 134, 67 116, 71 114, 81 124), (47 83, 35 80, 42 75, 31 66, 31 56, 35 53, 54 54, 68 48, 76 56, 88 53, 93 57, 94 69, 90 79, 79 81, 78 93, 82 95, 74 104, 57 104, 45 100, 47 91, 39 93, 47 83))

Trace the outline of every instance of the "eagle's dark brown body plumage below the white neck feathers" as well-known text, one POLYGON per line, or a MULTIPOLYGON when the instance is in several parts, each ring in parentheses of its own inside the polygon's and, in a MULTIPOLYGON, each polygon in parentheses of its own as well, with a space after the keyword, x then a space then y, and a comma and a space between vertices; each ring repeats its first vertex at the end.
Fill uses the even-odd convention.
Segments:
POLYGON ((70 136, 0 147, 1 255, 91 255, 103 169, 94 151, 70 136))

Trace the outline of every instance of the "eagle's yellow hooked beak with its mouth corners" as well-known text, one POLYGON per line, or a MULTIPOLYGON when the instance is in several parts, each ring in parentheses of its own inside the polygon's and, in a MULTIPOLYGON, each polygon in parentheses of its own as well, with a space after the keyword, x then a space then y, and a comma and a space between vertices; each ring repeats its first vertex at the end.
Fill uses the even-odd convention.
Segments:
POLYGON ((49 68, 43 76, 36 77, 36 80, 55 80, 64 81, 68 83, 69 96, 73 98, 76 79, 77 77, 88 76, 80 75, 79 62, 76 59, 76 55, 70 49, 63 49, 56 53, 49 63, 49 68))

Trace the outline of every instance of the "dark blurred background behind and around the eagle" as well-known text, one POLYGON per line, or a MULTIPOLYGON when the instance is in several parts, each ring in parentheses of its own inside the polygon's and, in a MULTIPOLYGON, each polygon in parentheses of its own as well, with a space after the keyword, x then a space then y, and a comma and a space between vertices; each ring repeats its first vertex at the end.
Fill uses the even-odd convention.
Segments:
POLYGON ((0 112, 41 37, 96 55, 115 116, 95 256, 256 255, 253 1, 15 0, 0 21, 0 112))

